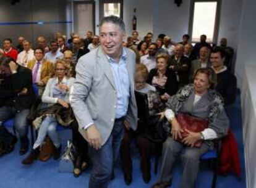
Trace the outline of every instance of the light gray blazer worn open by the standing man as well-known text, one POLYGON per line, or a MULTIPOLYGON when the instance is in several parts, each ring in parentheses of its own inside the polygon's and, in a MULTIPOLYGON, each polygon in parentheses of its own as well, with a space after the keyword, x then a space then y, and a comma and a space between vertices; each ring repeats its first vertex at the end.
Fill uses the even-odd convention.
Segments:
MULTIPOLYGON (((130 101, 126 120, 132 129, 137 128, 137 105, 134 94, 135 54, 124 48, 130 78, 130 101)), ((94 123, 100 131, 102 145, 113 129, 116 116, 117 93, 111 65, 101 47, 80 57, 75 68, 76 78, 71 94, 71 106, 79 123, 79 131, 94 123)))

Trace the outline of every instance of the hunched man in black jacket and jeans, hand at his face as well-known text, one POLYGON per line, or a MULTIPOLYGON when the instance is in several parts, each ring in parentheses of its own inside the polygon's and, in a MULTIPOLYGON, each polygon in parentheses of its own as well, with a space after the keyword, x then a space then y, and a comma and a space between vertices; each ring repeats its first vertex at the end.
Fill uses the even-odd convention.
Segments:
POLYGON ((35 99, 32 73, 11 57, 0 60, 0 126, 14 118, 14 128, 20 138, 20 155, 28 151, 27 115, 35 99))

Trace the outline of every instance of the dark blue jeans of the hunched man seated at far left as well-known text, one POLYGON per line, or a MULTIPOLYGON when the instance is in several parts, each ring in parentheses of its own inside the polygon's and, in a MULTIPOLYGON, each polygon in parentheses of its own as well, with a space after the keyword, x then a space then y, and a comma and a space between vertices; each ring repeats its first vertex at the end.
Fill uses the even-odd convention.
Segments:
POLYGON ((20 138, 27 137, 28 135, 28 123, 27 116, 29 109, 20 110, 16 112, 14 107, 3 106, 0 107, 0 125, 8 120, 14 118, 14 128, 19 133, 20 138))

